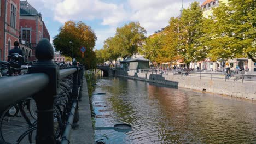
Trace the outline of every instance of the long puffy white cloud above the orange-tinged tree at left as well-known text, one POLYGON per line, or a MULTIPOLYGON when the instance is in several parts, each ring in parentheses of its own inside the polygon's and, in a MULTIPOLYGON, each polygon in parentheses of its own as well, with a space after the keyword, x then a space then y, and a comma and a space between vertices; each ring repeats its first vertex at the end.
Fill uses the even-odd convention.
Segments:
POLYGON ((117 26, 124 21, 126 12, 123 5, 107 4, 99 0, 65 0, 56 4, 54 19, 68 20, 102 19, 102 25, 117 26))

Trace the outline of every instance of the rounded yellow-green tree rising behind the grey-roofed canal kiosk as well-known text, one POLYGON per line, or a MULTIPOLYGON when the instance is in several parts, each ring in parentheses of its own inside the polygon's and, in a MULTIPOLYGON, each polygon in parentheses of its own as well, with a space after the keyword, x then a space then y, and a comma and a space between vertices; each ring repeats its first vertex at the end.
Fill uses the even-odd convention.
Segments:
POLYGON ((139 22, 130 22, 121 28, 117 28, 113 42, 114 51, 119 53, 124 59, 138 52, 138 47, 142 46, 142 41, 146 39, 147 31, 140 26, 139 22))

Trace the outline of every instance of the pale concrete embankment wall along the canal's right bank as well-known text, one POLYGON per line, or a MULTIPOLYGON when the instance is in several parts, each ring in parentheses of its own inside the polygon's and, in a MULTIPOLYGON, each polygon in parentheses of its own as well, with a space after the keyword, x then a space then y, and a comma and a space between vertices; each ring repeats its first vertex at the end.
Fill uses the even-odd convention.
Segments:
MULTIPOLYGON (((231 97, 255 99, 256 98, 256 82, 255 81, 234 81, 225 79, 213 79, 211 77, 193 77, 181 75, 160 75, 152 73, 136 73, 134 71, 109 70, 110 75, 127 77, 164 85, 174 86, 178 88, 188 88, 197 91, 229 95, 231 97)), ((256 99, 255 99, 256 100, 256 99)))

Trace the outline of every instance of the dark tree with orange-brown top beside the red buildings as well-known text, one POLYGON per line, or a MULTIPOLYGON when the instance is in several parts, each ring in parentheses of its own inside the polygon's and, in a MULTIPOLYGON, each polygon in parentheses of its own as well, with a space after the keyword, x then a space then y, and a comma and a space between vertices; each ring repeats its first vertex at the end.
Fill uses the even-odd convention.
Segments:
POLYGON ((62 55, 72 57, 72 43, 74 45, 74 58, 86 65, 86 68, 96 67, 96 54, 93 51, 96 34, 90 26, 84 22, 67 21, 65 25, 60 27, 59 34, 54 37, 53 45, 62 55), (72 43, 69 43, 72 41, 72 43), (85 46, 86 52, 82 58, 80 47, 85 46))

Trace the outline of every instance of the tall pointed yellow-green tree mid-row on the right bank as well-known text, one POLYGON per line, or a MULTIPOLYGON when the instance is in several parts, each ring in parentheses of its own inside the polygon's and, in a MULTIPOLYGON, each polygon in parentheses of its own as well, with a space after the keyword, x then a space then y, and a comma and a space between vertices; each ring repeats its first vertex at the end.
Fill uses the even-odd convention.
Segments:
POLYGON ((200 38, 203 35, 203 15, 198 2, 184 9, 181 18, 171 18, 166 28, 166 47, 172 59, 183 59, 189 67, 190 62, 200 61, 205 50, 200 38))

